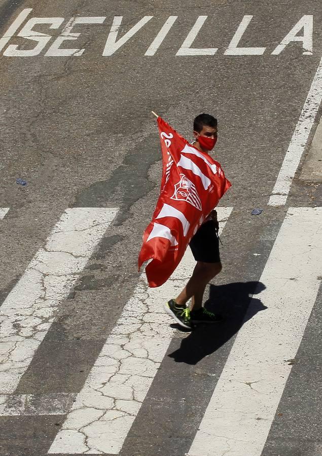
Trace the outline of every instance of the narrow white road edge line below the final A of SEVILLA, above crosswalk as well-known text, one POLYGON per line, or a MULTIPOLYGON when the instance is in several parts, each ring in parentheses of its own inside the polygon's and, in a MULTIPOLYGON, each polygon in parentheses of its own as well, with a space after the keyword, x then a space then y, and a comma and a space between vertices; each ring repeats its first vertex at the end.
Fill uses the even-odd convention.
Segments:
POLYGON ((291 143, 277 176, 269 206, 282 206, 286 203, 292 181, 300 164, 302 154, 313 126, 322 99, 322 59, 317 67, 311 88, 305 100, 300 119, 295 127, 291 143))

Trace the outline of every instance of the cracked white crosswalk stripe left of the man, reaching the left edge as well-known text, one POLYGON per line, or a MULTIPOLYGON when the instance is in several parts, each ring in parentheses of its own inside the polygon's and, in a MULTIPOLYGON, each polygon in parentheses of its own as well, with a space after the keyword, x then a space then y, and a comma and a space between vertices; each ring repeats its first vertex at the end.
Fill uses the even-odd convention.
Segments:
MULTIPOLYGON (((117 213, 115 208, 67 209, 0 308, 0 394, 15 391, 69 293, 117 213)), ((2 401, 1 414, 6 414, 2 401)))

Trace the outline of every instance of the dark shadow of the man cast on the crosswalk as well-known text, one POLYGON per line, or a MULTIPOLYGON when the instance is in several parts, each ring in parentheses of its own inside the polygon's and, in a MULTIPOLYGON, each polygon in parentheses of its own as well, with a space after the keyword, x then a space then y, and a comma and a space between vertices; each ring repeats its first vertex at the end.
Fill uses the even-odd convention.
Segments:
POLYGON ((211 312, 222 314, 225 320, 221 323, 199 324, 182 340, 180 348, 168 356, 178 363, 197 364, 205 356, 216 352, 237 333, 244 321, 267 309, 260 299, 249 296, 258 294, 265 288, 261 282, 210 285, 205 307, 211 312))

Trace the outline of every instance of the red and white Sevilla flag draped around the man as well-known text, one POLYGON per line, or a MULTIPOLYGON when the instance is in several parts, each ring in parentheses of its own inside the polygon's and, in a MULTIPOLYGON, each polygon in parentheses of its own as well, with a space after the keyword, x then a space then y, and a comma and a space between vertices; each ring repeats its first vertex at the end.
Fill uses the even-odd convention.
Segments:
POLYGON ((160 196, 144 235, 138 268, 150 287, 162 285, 180 263, 193 235, 231 183, 220 164, 158 117, 163 172, 160 196))

